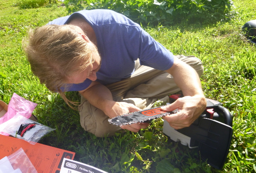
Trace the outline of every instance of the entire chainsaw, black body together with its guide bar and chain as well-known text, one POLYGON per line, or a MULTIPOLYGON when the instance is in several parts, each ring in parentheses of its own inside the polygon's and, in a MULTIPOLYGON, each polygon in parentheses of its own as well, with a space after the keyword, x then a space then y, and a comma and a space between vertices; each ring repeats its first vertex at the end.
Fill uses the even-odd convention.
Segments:
MULTIPOLYGON (((182 94, 170 96, 170 103, 175 102, 182 94)), ((160 107, 123 114, 108 121, 116 126, 125 126, 138 122, 150 122, 153 119, 176 114, 179 110, 165 112, 160 107)), ((232 139, 232 116, 220 102, 207 99, 207 107, 189 127, 175 130, 164 121, 163 133, 175 142, 183 142, 190 148, 198 147, 204 161, 216 169, 222 169, 226 161, 232 139), (166 124, 166 126, 165 126, 166 124), (180 140, 182 139, 182 140, 180 140), (184 140, 183 140, 184 139, 184 140)))

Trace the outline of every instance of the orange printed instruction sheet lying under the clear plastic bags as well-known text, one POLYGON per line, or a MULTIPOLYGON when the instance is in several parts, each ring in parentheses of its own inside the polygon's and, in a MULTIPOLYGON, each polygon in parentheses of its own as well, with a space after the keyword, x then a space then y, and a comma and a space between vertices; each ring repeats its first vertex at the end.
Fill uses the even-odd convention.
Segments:
POLYGON ((22 139, 0 134, 0 159, 22 148, 38 173, 60 173, 63 158, 73 160, 75 153, 36 143, 32 145, 22 139))

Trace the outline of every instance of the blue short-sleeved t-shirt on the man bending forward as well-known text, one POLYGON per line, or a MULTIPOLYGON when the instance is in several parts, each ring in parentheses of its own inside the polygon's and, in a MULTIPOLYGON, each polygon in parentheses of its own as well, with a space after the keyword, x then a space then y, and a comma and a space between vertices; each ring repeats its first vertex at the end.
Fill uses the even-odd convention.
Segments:
MULTIPOLYGON (((173 54, 155 41, 138 24, 126 16, 111 10, 82 10, 72 15, 81 15, 93 28, 102 65, 97 81, 103 85, 121 81, 134 73, 134 64, 140 64, 158 70, 168 70, 174 62, 173 54)), ((70 16, 72 16, 70 15, 70 16)), ((67 24, 70 16, 55 19, 48 24, 67 24)), ((91 84, 72 84, 69 91, 84 90, 91 84)))

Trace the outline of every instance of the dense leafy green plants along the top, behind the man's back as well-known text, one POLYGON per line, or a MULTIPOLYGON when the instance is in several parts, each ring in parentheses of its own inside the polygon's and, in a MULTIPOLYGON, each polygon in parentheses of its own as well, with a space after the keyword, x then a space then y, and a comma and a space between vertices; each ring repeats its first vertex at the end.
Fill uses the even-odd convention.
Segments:
POLYGON ((138 24, 170 26, 182 20, 213 22, 230 19, 231 0, 65 0, 69 13, 82 9, 110 9, 138 24))

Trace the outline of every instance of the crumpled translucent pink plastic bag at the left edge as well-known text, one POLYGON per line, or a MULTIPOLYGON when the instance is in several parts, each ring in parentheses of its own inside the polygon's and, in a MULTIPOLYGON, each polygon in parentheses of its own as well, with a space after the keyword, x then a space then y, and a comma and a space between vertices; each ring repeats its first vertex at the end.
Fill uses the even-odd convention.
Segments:
MULTIPOLYGON (((8 104, 8 111, 0 118, 0 124, 7 122, 9 119, 14 117, 17 113, 30 118, 33 110, 37 106, 37 103, 30 102, 23 97, 20 97, 18 94, 13 93, 12 98, 8 104)), ((9 136, 9 134, 0 132, 0 134, 9 136)))

